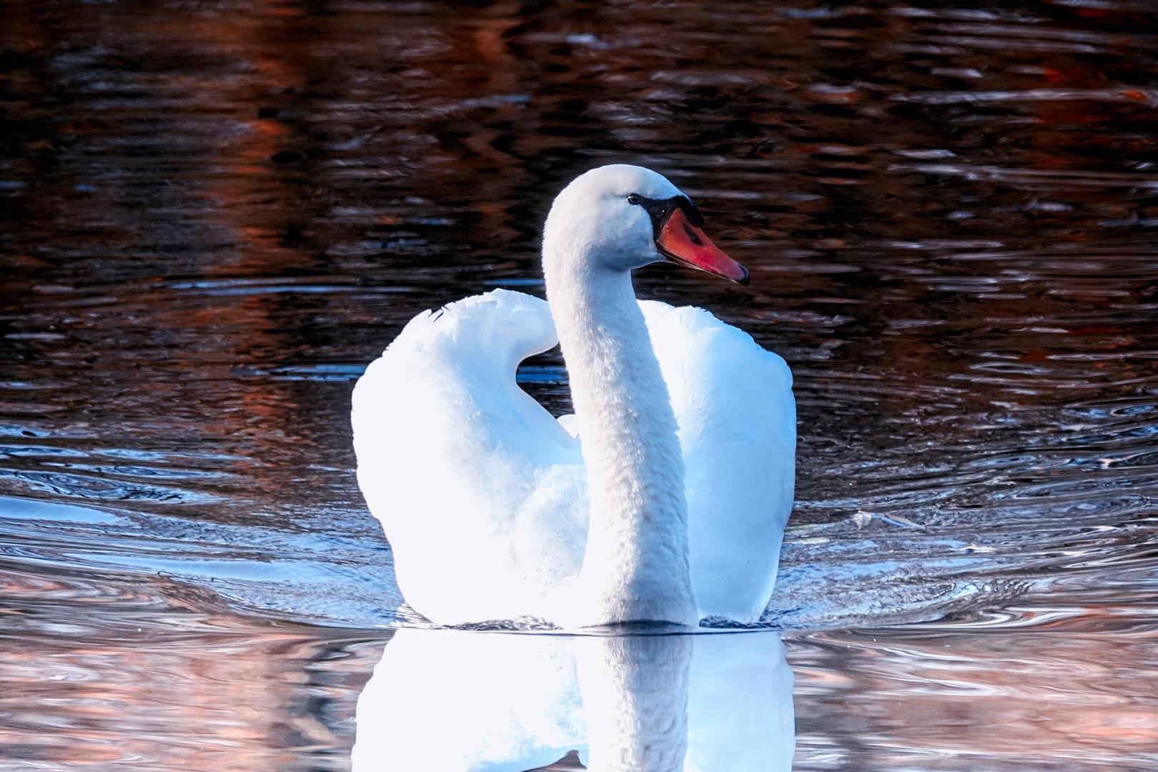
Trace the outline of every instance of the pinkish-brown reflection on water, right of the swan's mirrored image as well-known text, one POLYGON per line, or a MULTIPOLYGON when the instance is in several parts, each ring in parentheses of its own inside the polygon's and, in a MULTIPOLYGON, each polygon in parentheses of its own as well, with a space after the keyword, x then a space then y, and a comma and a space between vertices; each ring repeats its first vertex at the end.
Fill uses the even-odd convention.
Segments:
POLYGON ((1151 767, 1158 637, 1152 625, 1090 634, 1083 622, 1023 634, 785 641, 797 679, 796 769, 1151 767))

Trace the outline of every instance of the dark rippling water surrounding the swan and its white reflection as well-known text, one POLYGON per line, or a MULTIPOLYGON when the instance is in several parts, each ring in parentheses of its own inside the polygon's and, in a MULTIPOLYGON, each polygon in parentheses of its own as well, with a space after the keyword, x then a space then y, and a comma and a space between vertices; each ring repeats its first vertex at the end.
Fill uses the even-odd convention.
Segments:
MULTIPOLYGON (((639 294, 796 375, 796 769, 1158 764, 1150 3, 3 20, 2 769, 349 769, 415 620, 353 380, 423 309, 541 294, 550 199, 609 162, 753 273, 639 294)), ((569 411, 557 354, 520 380, 569 411)))

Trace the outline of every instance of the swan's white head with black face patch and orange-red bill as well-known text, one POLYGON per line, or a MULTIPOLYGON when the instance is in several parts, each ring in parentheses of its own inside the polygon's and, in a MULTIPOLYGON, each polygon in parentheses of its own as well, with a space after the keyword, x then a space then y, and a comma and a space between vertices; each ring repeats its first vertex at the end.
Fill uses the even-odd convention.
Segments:
POLYGON ((691 200, 651 169, 615 163, 563 189, 543 229, 543 266, 626 272, 667 260, 747 285, 748 272, 708 240, 691 200))

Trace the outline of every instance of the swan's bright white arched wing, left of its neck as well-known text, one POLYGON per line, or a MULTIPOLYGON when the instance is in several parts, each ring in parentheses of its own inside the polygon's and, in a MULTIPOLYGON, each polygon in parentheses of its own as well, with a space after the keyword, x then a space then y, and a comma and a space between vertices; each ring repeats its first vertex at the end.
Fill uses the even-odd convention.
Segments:
POLYGON ((544 301, 497 289, 415 317, 354 389, 359 486, 433 622, 548 617, 579 572, 579 443, 514 378, 555 343, 544 301))

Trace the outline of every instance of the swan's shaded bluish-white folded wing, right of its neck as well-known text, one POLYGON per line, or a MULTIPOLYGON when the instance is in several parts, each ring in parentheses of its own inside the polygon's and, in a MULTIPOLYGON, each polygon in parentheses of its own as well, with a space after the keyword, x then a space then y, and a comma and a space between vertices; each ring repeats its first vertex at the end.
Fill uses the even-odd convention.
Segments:
POLYGON ((776 582, 792 508, 792 374, 708 311, 640 307, 680 424, 699 615, 756 622, 776 582))

